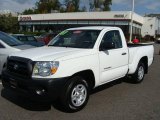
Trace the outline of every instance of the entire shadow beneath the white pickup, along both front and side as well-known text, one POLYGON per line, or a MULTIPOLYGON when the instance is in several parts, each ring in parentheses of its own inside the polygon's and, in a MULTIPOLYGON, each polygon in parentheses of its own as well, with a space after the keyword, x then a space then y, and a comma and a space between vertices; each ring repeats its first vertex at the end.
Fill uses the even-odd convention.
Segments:
MULTIPOLYGON (((128 78, 122 78, 115 80, 113 82, 104 84, 100 87, 95 88, 92 90, 91 95, 98 93, 100 91, 103 91, 105 89, 108 89, 114 85, 121 84, 123 82, 130 83, 128 78)), ((8 89, 2 89, 1 96, 7 99, 8 101, 30 111, 48 111, 53 106, 55 109, 68 113, 65 108, 62 107, 62 104, 59 102, 60 100, 57 100, 55 102, 51 103, 44 103, 44 102, 38 102, 38 101, 32 101, 27 97, 22 97, 18 94, 16 94, 14 91, 8 90, 8 89)))

